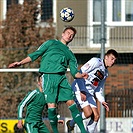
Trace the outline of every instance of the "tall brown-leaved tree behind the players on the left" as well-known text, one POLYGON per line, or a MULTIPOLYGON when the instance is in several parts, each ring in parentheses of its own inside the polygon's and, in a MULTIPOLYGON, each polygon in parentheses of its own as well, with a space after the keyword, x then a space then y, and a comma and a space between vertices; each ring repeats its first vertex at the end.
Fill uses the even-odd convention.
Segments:
MULTIPOLYGON (((47 27, 41 28, 37 24, 38 14, 41 13, 38 4, 34 0, 25 0, 23 5, 12 3, 8 8, 6 20, 2 22, 1 68, 7 68, 10 63, 27 57, 28 53, 35 51, 44 41, 55 37, 52 18, 48 20, 47 27)), ((39 68, 39 62, 38 59, 21 68, 39 68)), ((19 97, 23 97, 29 89, 35 87, 36 73, 1 73, 0 76, 1 103, 3 103, 2 99, 5 99, 4 95, 8 95, 8 93, 10 93, 10 98, 16 97, 15 99, 18 101, 19 97), (18 93, 19 95, 17 95, 18 93)), ((13 103, 13 101, 16 102, 14 99, 10 99, 10 102, 13 103)), ((9 109, 5 109, 4 106, 1 108, 1 112, 3 110, 8 111, 7 115, 10 114, 9 109)), ((11 112, 11 114, 14 112, 16 114, 16 107, 11 112)), ((1 114, 1 116, 3 115, 1 114)))

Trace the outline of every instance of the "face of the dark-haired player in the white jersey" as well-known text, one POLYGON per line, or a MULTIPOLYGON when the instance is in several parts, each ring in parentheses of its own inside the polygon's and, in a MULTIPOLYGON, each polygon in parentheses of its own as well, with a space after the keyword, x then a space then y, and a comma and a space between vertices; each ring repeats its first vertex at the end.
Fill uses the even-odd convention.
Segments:
POLYGON ((115 62, 116 62, 116 58, 113 54, 106 55, 106 57, 105 57, 106 67, 112 67, 115 62))

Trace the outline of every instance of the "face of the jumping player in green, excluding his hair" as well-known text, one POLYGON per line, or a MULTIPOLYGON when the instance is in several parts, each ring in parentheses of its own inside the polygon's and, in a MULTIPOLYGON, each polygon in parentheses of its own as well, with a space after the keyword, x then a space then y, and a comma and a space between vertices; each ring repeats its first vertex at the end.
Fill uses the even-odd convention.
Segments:
POLYGON ((65 32, 62 33, 62 41, 65 44, 71 42, 73 38, 74 38, 74 32, 71 29, 67 29, 65 32))

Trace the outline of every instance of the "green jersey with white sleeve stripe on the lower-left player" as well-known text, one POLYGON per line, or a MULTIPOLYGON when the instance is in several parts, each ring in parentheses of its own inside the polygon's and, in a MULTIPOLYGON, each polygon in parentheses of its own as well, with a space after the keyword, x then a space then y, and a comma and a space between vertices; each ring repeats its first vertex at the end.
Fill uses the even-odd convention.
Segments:
POLYGON ((40 92, 38 88, 29 92, 18 106, 18 120, 23 119, 22 114, 26 106, 25 122, 42 121, 42 112, 45 104, 44 93, 40 92))

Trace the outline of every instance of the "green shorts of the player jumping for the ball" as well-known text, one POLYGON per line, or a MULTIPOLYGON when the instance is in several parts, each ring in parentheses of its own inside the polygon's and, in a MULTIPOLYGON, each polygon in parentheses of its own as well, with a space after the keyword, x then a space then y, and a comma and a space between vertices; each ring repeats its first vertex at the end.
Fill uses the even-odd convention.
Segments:
POLYGON ((73 91, 65 74, 43 74, 42 79, 46 103, 73 100, 73 91))

